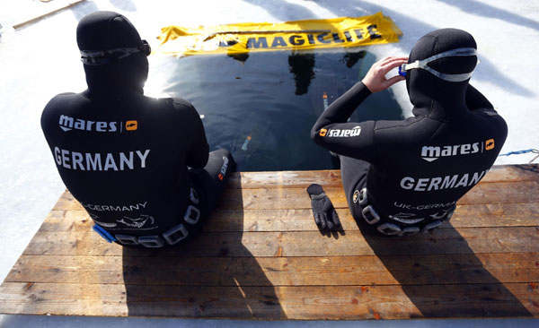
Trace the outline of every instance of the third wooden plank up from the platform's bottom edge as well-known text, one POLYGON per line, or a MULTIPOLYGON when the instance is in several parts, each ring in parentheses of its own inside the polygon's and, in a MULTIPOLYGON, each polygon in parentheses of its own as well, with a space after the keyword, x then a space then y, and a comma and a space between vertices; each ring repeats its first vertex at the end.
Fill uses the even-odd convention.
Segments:
MULTIPOLYGON (((432 234, 388 239, 361 231, 323 236, 318 231, 206 232, 189 246, 137 250, 139 256, 350 256, 539 252, 539 227, 437 229, 432 234)), ((121 255, 122 247, 93 231, 41 232, 24 255, 121 255)))

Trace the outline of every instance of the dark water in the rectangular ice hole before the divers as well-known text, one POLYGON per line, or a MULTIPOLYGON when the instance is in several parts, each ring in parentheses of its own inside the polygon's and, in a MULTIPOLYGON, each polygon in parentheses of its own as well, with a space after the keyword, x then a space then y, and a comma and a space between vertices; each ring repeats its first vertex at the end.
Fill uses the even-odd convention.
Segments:
MULTIPOLYGON (((163 92, 188 99, 204 118, 211 150, 231 150, 239 171, 337 168, 310 138, 327 103, 375 62, 367 51, 266 52, 166 58, 152 67, 163 92)), ((153 76, 154 72, 150 72, 153 76)), ((371 95, 350 118, 401 119, 389 91, 371 95)))

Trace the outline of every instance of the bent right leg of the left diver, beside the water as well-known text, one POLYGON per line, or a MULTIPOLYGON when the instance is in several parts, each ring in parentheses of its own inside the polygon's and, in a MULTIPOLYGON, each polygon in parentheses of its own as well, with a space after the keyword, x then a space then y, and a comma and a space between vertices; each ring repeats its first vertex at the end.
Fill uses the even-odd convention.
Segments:
POLYGON ((235 162, 230 151, 218 150, 209 153, 208 164, 201 169, 190 170, 190 177, 201 189, 206 200, 206 215, 216 207, 216 203, 225 190, 225 182, 234 171, 235 162))

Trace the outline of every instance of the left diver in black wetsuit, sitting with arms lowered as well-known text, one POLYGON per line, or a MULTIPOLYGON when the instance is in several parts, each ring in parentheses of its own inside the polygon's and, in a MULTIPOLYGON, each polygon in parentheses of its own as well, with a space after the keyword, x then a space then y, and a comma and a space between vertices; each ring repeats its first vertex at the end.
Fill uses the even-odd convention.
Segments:
POLYGON ((161 247, 189 239, 234 160, 224 150, 208 155, 188 101, 144 96, 150 48, 126 17, 89 14, 76 36, 88 89, 57 95, 41 116, 60 177, 109 241, 161 247))

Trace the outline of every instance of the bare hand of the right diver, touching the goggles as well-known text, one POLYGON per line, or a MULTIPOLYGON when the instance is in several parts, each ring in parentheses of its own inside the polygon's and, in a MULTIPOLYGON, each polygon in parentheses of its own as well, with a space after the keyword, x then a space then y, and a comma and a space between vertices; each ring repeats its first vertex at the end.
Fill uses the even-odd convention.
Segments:
POLYGON ((408 57, 385 57, 371 66, 367 72, 367 75, 365 75, 361 82, 363 82, 368 90, 373 93, 384 91, 391 87, 394 83, 406 79, 402 75, 393 76, 389 80, 385 78, 385 74, 393 70, 393 68, 399 67, 400 65, 406 63, 408 63, 408 57))

